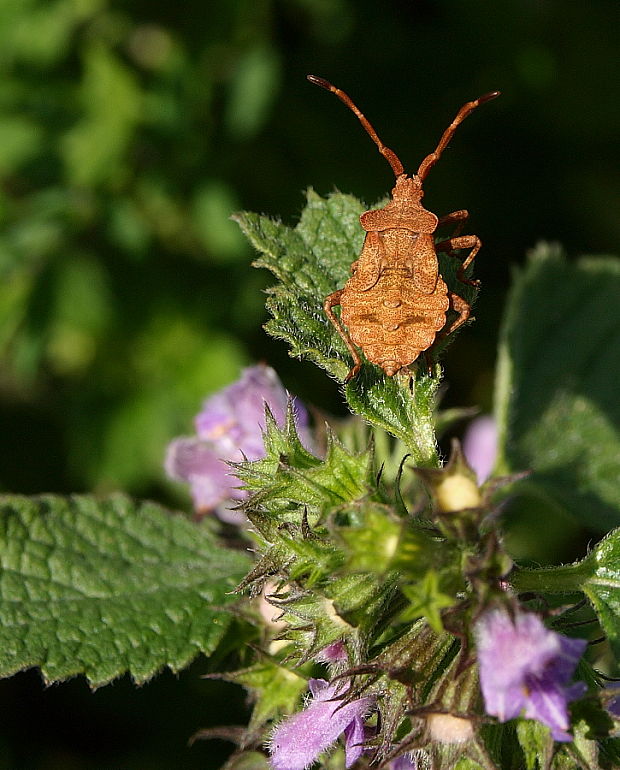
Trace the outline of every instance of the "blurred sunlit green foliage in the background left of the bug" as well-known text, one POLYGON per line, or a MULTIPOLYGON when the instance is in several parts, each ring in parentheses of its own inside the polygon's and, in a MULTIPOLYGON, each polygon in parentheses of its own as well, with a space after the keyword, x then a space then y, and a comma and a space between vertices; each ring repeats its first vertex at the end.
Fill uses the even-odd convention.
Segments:
POLYGON ((239 338, 263 311, 212 137, 240 154, 281 62, 268 27, 238 36, 232 5, 196 40, 135 3, 0 8, 0 396, 20 431, 15 402, 63 445, 53 482, 5 459, 5 489, 144 492, 166 441, 247 362, 239 338))

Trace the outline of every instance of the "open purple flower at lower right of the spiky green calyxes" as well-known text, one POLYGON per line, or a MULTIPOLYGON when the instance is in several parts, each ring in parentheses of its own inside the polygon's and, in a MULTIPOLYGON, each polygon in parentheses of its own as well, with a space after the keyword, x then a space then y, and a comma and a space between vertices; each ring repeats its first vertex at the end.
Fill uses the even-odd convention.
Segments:
POLYGON ((568 686, 587 643, 545 628, 537 615, 492 609, 476 622, 480 686, 489 714, 500 722, 521 713, 551 728, 556 741, 571 741, 567 705, 586 691, 568 686))

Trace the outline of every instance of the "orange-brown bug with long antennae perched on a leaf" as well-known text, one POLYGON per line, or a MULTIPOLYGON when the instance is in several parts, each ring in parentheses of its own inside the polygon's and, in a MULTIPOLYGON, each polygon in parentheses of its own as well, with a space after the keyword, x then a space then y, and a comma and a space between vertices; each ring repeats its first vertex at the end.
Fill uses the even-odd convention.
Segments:
POLYGON ((362 252, 351 265, 351 277, 344 288, 330 294, 324 304, 327 317, 353 356, 354 365, 345 382, 356 376, 362 364, 355 346, 388 377, 393 377, 397 372, 407 371, 408 365, 437 339, 451 334, 470 316, 471 305, 450 291, 441 277, 437 252, 453 254, 458 249, 469 249, 456 277, 463 284, 476 286, 476 281, 465 277, 465 271, 480 250, 480 239, 476 235, 460 235, 469 216, 467 211, 453 211, 441 218, 427 211, 420 202, 424 195, 422 185, 457 127, 480 104, 499 96, 499 91, 464 104, 434 152, 424 158, 416 174, 408 175, 396 153, 383 144, 344 91, 315 75, 308 75, 308 80, 336 94, 357 115, 396 176, 390 202, 382 209, 361 215, 360 222, 366 231, 362 252), (437 228, 451 224, 456 225, 453 235, 435 243, 437 228), (337 305, 340 319, 333 310, 337 305), (457 313, 449 323, 448 310, 457 313))

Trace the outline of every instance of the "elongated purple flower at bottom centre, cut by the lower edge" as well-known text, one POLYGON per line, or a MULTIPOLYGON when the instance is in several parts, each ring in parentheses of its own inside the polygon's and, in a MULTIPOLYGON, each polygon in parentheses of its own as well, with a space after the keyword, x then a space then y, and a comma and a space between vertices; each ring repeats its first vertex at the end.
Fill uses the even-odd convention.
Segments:
POLYGON ((364 717, 372 698, 358 698, 342 705, 346 686, 324 679, 308 682, 312 700, 303 711, 284 719, 269 741, 274 770, 304 770, 338 737, 345 737, 345 766, 351 767, 364 751, 364 717))

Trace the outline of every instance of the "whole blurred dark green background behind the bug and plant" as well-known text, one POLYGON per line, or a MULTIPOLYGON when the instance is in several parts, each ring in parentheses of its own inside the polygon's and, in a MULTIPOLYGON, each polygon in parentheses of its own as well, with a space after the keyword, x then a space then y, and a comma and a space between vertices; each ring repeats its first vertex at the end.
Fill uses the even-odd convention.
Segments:
MULTIPOLYGON (((333 382, 263 333, 269 278, 229 221, 293 223, 308 186, 369 203, 390 189, 307 73, 347 90, 411 171, 463 102, 502 91, 425 197, 468 208, 484 242, 445 403, 489 409, 511 265, 541 238, 617 251, 619 22, 617 0, 0 0, 2 489, 182 505, 166 442, 258 360, 342 409, 333 382)), ((242 696, 205 669, 94 695, 79 680, 44 690, 34 672, 0 683, 0 768, 218 767, 226 744, 186 740, 239 719, 242 696)))

